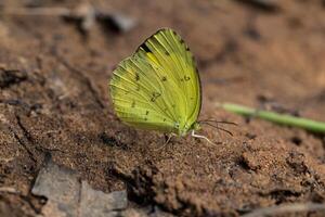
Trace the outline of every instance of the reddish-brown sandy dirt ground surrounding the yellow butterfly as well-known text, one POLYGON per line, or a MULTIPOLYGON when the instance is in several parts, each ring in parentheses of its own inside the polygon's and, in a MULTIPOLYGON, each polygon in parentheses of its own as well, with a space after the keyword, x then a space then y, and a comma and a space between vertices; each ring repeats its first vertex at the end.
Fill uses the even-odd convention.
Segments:
MULTIPOLYGON (((233 102, 325 122, 324 1, 91 2, 136 25, 117 31, 96 22, 84 33, 62 16, 20 13, 82 1, 0 2, 1 216, 41 214, 46 200, 30 189, 48 154, 94 189, 128 189, 132 203, 180 216, 325 202, 324 136, 216 107, 233 102), (188 136, 159 149, 164 135, 114 114, 112 69, 161 27, 176 29, 196 56, 199 118, 238 124, 224 126, 233 136, 204 127, 217 145, 188 136)), ((322 216, 299 213, 308 215, 322 216)))

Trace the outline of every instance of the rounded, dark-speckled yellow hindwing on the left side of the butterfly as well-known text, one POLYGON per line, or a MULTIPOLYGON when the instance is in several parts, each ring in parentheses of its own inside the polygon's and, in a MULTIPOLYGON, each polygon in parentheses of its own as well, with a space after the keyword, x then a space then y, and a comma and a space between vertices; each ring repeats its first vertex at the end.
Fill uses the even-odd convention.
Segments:
POLYGON ((119 118, 132 126, 170 131, 173 122, 160 108, 159 89, 155 76, 151 76, 147 69, 147 64, 135 59, 119 64, 110 81, 115 111, 119 118))

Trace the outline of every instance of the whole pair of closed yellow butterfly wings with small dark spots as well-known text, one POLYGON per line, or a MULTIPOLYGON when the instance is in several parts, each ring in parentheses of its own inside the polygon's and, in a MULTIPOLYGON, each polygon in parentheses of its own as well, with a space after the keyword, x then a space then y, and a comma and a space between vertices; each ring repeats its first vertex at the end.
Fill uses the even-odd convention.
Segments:
POLYGON ((186 132, 200 110, 200 81, 188 48, 160 29, 123 60, 109 84, 117 116, 129 125, 186 132))

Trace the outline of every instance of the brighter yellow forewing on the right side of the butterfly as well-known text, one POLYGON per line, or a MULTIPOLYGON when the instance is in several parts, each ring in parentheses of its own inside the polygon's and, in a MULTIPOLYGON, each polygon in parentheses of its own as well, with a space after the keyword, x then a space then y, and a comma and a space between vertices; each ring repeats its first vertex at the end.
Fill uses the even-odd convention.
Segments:
POLYGON ((200 110, 200 81, 193 54, 183 39, 172 29, 164 29, 151 37, 145 44, 154 44, 153 52, 164 61, 173 81, 182 89, 186 103, 183 106, 187 122, 195 122, 200 110), (162 54, 161 54, 162 53, 162 54), (165 55, 164 55, 165 53, 165 55))

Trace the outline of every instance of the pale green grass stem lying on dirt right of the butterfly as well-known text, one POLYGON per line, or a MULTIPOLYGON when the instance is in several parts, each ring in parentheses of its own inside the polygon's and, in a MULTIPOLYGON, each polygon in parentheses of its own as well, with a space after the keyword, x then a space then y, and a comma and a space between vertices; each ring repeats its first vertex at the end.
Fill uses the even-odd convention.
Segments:
POLYGON ((291 115, 278 114, 275 112, 255 110, 251 107, 232 103, 218 104, 218 106, 229 112, 233 112, 244 116, 259 117, 261 119, 265 119, 281 125, 299 127, 317 133, 325 133, 325 123, 322 122, 315 122, 312 119, 296 117, 291 115))

